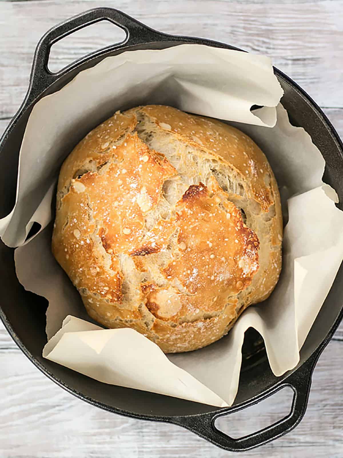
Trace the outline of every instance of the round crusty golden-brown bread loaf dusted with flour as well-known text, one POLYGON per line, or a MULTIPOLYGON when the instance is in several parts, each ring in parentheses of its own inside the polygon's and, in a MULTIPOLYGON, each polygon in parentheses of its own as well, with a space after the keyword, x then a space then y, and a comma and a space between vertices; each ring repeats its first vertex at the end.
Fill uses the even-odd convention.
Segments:
POLYGON ((52 250, 88 314, 165 353, 211 344, 281 269, 267 158, 241 131, 163 105, 117 112, 59 174, 52 250))

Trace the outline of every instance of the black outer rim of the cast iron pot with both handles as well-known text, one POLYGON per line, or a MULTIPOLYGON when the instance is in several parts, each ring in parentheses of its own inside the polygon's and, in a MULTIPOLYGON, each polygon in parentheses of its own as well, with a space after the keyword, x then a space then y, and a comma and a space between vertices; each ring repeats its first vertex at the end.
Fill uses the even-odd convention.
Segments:
MULTIPOLYGON (((204 44, 206 46, 212 46, 217 48, 241 50, 227 44, 223 44, 213 40, 207 40, 204 38, 184 37, 161 33, 155 31, 154 29, 151 29, 150 27, 145 26, 141 22, 133 19, 132 17, 126 15, 122 11, 118 11, 116 9, 101 7, 85 11, 51 28, 47 33, 44 34, 44 36, 39 41, 33 59, 27 95, 23 103, 21 104, 21 107, 11 120, 11 123, 5 130, 0 140, 0 145, 6 141, 8 134, 15 127, 17 121, 21 118, 22 114, 26 111, 26 109, 30 105, 33 106, 33 104, 35 104, 38 101, 41 94, 45 92, 49 87, 54 85, 54 83, 57 82, 59 78, 61 78, 62 76, 65 76, 66 74, 75 70, 77 71, 77 73, 79 71, 82 71, 82 67, 85 64, 89 63, 89 61, 92 61, 93 65, 96 65, 96 63, 100 62, 105 57, 111 55, 111 52, 118 50, 120 50, 120 52, 124 52, 126 50, 133 50, 133 47, 135 45, 147 44, 152 46, 154 43, 161 42, 169 44, 170 46, 176 46, 178 44, 204 44), (126 33, 126 38, 123 40, 123 42, 110 45, 106 48, 102 48, 91 54, 88 54, 80 60, 76 60, 70 65, 64 67, 61 71, 57 73, 52 73, 48 70, 49 52, 51 46, 54 43, 59 41, 61 38, 64 38, 65 36, 69 35, 70 33, 79 30, 80 28, 86 27, 88 25, 103 20, 110 21, 124 30, 124 32, 126 33)), ((311 105, 311 108, 316 111, 316 114, 322 118, 326 126, 329 128, 331 136, 336 142, 338 150, 340 151, 340 154, 343 158, 343 144, 334 127, 327 119, 327 116, 319 108, 319 106, 312 100, 312 98, 307 93, 305 93, 303 89, 301 89, 301 87, 299 87, 283 72, 279 71, 275 67, 274 72, 279 79, 283 80, 284 82, 289 84, 293 89, 295 89, 297 93, 301 96, 301 98, 303 98, 303 100, 307 104, 311 105)), ((74 76, 75 75, 71 76, 70 80, 73 79, 74 76)), ((253 447, 257 447, 267 442, 270 442, 279 436, 283 436, 287 432, 291 431, 296 425, 298 425, 298 423, 305 414, 307 401, 310 393, 312 372, 314 370, 314 367, 319 356, 321 355, 324 348, 327 346, 328 342, 331 340, 332 335, 339 326, 339 323, 342 321, 343 308, 339 312, 335 322, 333 323, 326 337, 322 340, 321 344, 317 346, 317 348, 312 352, 311 356, 307 360, 305 360, 305 362, 295 367, 295 369, 293 369, 292 371, 289 371, 289 374, 285 376, 283 380, 280 380, 279 382, 276 382, 272 386, 266 388, 263 391, 263 393, 255 396, 254 398, 251 398, 246 402, 234 405, 233 407, 213 407, 213 410, 207 413, 180 416, 156 416, 133 413, 124 409, 110 407, 107 404, 100 403, 93 398, 85 396, 84 394, 69 387, 62 380, 59 380, 29 352, 29 350, 22 344, 21 340, 16 335, 16 332, 12 328, 10 322, 8 321, 7 317, 5 316, 5 313, 1 310, 1 308, 0 318, 4 323, 8 333, 11 335, 11 337, 16 342, 18 347, 22 350, 22 352, 27 356, 27 358, 31 360, 40 371, 42 371, 46 376, 48 376, 48 378, 50 378, 52 381, 54 381, 59 386, 64 388, 69 393, 75 395, 76 397, 92 405, 95 405, 96 407, 100 407, 104 410, 121 414, 124 416, 144 420, 163 421, 182 426, 184 428, 187 428, 189 431, 196 433, 198 436, 203 437, 204 439, 213 443, 214 445, 224 448, 225 450, 245 451, 253 447), (284 387, 290 387, 294 392, 294 397, 290 413, 282 420, 279 420, 278 422, 264 428, 263 430, 254 432, 244 437, 240 437, 238 439, 234 439, 226 435, 225 433, 223 433, 215 427, 214 421, 218 417, 228 413, 237 412, 241 409, 245 409, 253 404, 262 401, 265 398, 268 398, 269 396, 273 395, 274 393, 278 392, 280 389, 284 387)))

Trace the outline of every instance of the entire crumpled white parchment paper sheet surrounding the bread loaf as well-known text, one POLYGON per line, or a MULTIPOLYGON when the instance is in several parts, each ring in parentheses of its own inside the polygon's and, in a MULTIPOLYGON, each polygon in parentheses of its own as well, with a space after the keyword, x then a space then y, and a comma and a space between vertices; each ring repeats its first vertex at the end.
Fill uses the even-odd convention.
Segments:
POLYGON ((181 45, 107 58, 36 104, 21 146, 16 207, 0 222, 0 234, 10 246, 23 245, 33 221, 42 224, 16 249, 15 261, 21 284, 49 300, 44 357, 102 382, 215 406, 234 401, 248 327, 262 334, 275 375, 295 367, 343 258, 343 213, 335 192, 322 183, 322 155, 302 128, 290 125, 281 96, 268 58, 181 45), (235 121, 267 155, 288 219, 273 294, 249 307, 227 337, 191 353, 164 355, 133 330, 92 324, 50 251, 51 199, 64 157, 117 109, 148 103, 235 121), (252 114, 252 105, 264 108, 252 114))

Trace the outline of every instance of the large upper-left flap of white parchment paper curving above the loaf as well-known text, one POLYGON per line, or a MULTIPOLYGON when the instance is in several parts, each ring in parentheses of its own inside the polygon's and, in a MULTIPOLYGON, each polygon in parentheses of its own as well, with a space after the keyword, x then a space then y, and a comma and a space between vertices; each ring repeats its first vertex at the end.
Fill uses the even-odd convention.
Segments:
POLYGON ((32 110, 21 145, 16 205, 0 220, 2 240, 9 246, 22 245, 34 221, 42 218, 38 222, 45 227, 49 198, 44 197, 64 158, 117 109, 169 104, 272 126, 282 93, 268 57, 227 49, 185 44, 102 60, 32 110), (264 108, 255 115, 252 105, 264 108), (40 203, 43 209, 33 219, 40 203))

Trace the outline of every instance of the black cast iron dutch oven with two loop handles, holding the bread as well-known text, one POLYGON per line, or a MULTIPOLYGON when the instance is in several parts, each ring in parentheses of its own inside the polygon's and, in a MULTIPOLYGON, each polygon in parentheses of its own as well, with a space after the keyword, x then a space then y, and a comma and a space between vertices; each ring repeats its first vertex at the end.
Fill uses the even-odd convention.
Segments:
MULTIPOLYGON (((14 204, 18 154, 27 119, 36 102, 58 91, 81 70, 102 59, 134 49, 165 49, 184 43, 237 49, 210 40, 166 35, 146 27, 126 14, 96 8, 75 16, 49 30, 40 40, 34 56, 27 96, 0 141, 0 217, 14 204), (58 73, 48 71, 50 47, 60 38, 94 22, 108 20, 126 32, 126 39, 96 51, 74 62, 58 73)), ((343 145, 325 114, 313 100, 278 69, 275 74, 284 88, 282 103, 294 125, 302 126, 326 161, 324 180, 338 192, 343 202, 343 145)), ((42 121, 43 122, 43 121, 42 121)), ((43 127, 43 126, 42 126, 43 127)), ((83 135, 80 135, 81 137, 83 135)), ((342 204, 339 205, 343 209, 342 204)), ((102 409, 145 420, 165 421, 183 426, 209 442, 231 451, 248 450, 271 441, 294 428, 305 413, 312 371, 323 349, 343 317, 343 267, 300 352, 298 366, 284 376, 275 377, 266 357, 263 341, 252 329, 246 333, 239 391, 230 408, 215 408, 177 398, 103 384, 42 358, 46 343, 46 300, 29 293, 19 284, 13 260, 13 249, 0 242, 1 298, 0 317, 16 344, 49 378, 75 396, 102 409), (214 420, 221 415, 244 409, 288 386, 294 392, 288 416, 251 435, 233 439, 219 431, 214 420)))

